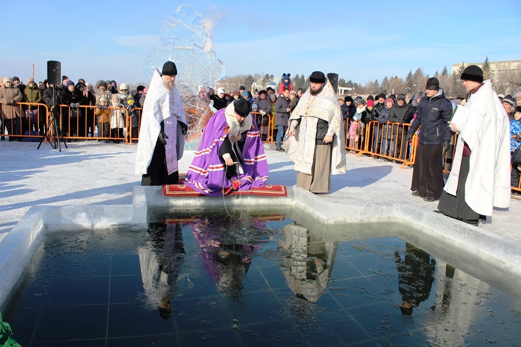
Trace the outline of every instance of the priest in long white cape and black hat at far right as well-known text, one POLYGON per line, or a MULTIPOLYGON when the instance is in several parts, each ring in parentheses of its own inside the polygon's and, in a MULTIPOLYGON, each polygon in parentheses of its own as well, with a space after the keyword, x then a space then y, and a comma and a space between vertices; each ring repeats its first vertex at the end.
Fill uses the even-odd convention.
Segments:
POLYGON ((483 71, 468 66, 460 79, 469 92, 449 124, 458 133, 452 170, 438 210, 469 224, 510 206, 508 117, 483 71))

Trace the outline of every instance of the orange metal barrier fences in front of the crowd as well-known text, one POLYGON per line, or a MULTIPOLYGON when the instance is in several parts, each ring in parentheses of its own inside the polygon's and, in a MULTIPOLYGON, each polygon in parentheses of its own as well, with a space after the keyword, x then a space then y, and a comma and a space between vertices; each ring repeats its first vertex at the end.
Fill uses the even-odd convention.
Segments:
MULTIPOLYGON (((56 112, 51 111, 44 104, 33 104, 30 102, 17 102, 14 105, 0 104, 0 137, 9 137, 10 141, 23 140, 26 142, 39 142, 47 131, 52 117, 60 126, 64 138, 69 140, 97 139, 108 142, 125 142, 132 144, 139 140, 141 127, 142 108, 127 110, 124 107, 107 107, 110 110, 108 122, 99 122, 100 116, 95 115, 98 106, 79 106, 71 108, 67 105, 57 106, 56 112)), ((257 123, 262 141, 274 143, 277 135, 275 115, 259 112, 251 112, 253 120, 257 123)), ((103 119, 106 121, 107 119, 103 119)), ((410 123, 379 123, 370 121, 344 120, 345 149, 357 153, 357 157, 369 155, 381 157, 395 162, 401 162, 401 168, 414 165, 418 136, 414 134, 411 143, 407 143, 410 123)), ((51 137, 56 134, 49 134, 51 137)), ((443 157, 443 173, 450 174, 452 158, 455 153, 457 134, 451 139, 451 148, 443 157)), ((521 192, 521 165, 511 164, 512 190, 521 192)))

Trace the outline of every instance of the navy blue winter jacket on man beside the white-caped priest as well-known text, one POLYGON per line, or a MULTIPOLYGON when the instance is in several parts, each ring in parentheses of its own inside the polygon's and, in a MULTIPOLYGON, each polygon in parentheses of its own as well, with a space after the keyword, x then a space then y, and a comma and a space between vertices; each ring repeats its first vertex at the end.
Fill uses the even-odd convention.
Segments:
POLYGON ((420 99, 416 110, 416 119, 409 128, 408 133, 414 134, 419 126, 418 143, 422 145, 443 145, 444 140, 450 141, 452 132, 448 122, 452 117, 452 105, 445 98, 443 89, 438 94, 429 98, 427 95, 420 99))

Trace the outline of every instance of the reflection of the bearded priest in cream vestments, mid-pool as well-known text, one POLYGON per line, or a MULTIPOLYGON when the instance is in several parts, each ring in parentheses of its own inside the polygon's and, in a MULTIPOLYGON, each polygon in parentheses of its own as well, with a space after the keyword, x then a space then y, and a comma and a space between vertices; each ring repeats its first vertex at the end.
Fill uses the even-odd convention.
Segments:
POLYGON ((299 298, 316 302, 327 288, 338 242, 324 242, 296 223, 282 228, 279 250, 287 250, 280 264, 286 283, 299 298))

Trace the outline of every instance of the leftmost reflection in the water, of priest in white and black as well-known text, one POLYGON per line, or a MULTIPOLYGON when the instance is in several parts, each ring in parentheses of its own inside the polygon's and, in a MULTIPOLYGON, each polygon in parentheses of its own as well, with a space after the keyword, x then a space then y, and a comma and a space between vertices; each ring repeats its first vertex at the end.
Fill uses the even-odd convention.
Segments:
POLYGON ((138 250, 143 288, 148 305, 168 319, 172 288, 185 254, 181 225, 150 223, 148 233, 150 240, 138 250))

